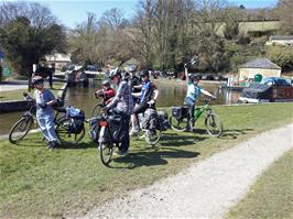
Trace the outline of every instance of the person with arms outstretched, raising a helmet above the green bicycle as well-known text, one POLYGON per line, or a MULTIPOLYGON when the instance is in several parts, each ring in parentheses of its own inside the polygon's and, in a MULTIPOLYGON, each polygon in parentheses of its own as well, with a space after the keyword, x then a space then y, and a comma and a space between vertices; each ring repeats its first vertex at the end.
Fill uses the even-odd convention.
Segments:
POLYGON ((211 98, 216 97, 214 95, 211 95, 210 92, 208 92, 207 90, 203 89, 202 87, 198 86, 199 83, 199 75, 188 75, 187 72, 187 66, 185 65, 185 77, 186 77, 186 86, 187 86, 187 94, 185 97, 184 102, 188 106, 189 108, 189 117, 188 117, 188 127, 187 127, 187 131, 193 131, 192 127, 191 127, 191 122, 194 125, 194 108, 195 108, 195 103, 198 99, 198 97, 200 96, 200 94, 207 95, 211 98))

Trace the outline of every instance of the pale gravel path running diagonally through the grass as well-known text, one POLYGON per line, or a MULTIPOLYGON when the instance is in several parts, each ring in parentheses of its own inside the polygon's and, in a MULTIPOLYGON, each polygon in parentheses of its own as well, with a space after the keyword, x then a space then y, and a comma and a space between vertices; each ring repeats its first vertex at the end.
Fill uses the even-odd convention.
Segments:
POLYGON ((293 146, 293 123, 252 138, 186 172, 131 191, 85 218, 221 218, 293 146))

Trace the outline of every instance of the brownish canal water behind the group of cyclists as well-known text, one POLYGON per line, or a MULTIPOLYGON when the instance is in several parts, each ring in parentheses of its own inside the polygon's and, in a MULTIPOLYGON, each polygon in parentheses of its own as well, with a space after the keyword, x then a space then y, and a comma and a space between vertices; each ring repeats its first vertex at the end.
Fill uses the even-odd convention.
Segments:
MULTIPOLYGON (((154 80, 160 95, 156 107, 171 107, 183 105, 186 86, 184 81, 158 79, 154 80)), ((217 96, 214 105, 229 105, 237 102, 241 91, 227 90, 219 88, 219 84, 200 81, 200 87, 217 96)), ((94 92, 101 87, 100 80, 93 80, 87 88, 75 87, 68 88, 66 94, 66 106, 74 106, 83 109, 86 117, 90 116, 91 109, 99 101, 95 98, 94 92)), ((204 99, 202 95, 200 99, 204 99)), ((200 100, 199 99, 199 100, 200 100)), ((0 135, 8 134, 11 127, 18 121, 23 112, 10 112, 0 114, 0 135)))

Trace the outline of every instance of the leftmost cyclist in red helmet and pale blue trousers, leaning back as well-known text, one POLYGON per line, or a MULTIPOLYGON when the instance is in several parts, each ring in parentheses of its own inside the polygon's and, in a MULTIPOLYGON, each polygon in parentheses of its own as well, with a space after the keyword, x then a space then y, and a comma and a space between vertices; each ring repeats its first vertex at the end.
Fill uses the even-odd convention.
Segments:
POLYGON ((41 131, 47 140, 47 149, 53 150, 56 145, 56 133, 52 106, 57 101, 50 89, 44 88, 44 79, 41 76, 34 76, 32 83, 36 90, 34 98, 36 102, 36 119, 41 131))

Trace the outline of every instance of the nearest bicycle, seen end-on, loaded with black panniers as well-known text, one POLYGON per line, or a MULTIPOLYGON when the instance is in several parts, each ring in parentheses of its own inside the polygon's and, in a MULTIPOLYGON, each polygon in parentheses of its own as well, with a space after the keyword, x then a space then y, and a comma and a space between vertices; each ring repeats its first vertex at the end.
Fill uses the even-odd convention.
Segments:
POLYGON ((128 122, 122 116, 106 112, 95 118, 99 125, 99 153, 101 163, 109 166, 115 149, 119 149, 124 136, 122 124, 128 122))

